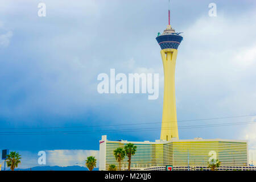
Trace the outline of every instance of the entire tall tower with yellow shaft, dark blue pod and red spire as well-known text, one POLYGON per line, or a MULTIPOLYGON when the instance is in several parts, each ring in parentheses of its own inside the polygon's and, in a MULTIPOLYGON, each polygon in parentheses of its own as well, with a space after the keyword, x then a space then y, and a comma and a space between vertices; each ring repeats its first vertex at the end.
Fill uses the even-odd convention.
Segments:
MULTIPOLYGON (((169 10, 170 17, 170 10, 169 10)), ((170 19, 170 18, 169 18, 170 19)), ((160 139, 171 140, 179 139, 177 128, 176 100, 175 100, 175 65, 177 58, 177 48, 183 37, 176 33, 169 25, 163 34, 159 34, 156 40, 161 47, 161 56, 164 68, 164 98, 163 98, 163 117, 160 139)))

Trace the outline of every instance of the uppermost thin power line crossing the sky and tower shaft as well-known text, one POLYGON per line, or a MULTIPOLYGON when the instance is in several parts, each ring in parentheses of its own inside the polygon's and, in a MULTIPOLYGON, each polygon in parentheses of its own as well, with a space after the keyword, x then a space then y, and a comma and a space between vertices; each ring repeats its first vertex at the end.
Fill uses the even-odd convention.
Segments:
MULTIPOLYGON (((178 120, 177 122, 189 122, 189 121, 210 121, 214 119, 228 119, 228 118, 241 118, 241 117, 250 117, 256 116, 256 114, 251 115, 237 115, 229 117, 217 117, 217 118, 204 118, 204 119, 187 119, 187 120, 178 120)), ((81 127, 104 127, 104 126, 130 126, 130 125, 150 125, 158 123, 171 123, 176 121, 168 122, 149 122, 149 123, 127 123, 127 124, 116 124, 116 125, 88 125, 88 126, 66 126, 66 127, 23 127, 23 128, 0 128, 0 130, 34 130, 34 129, 72 129, 72 128, 81 128, 81 127)))

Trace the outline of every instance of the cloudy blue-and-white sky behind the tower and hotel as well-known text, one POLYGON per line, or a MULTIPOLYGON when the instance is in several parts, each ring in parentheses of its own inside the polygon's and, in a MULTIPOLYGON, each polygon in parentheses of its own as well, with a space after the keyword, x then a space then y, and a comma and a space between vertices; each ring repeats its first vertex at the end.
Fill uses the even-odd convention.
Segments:
MULTIPOLYGON (((159 139, 163 65, 155 37, 166 28, 167 13, 167 0, 1 0, 0 148, 20 151, 27 164, 36 163, 42 150, 48 156, 75 152, 80 162, 90 152, 97 156, 102 134, 110 140, 159 139), (46 4, 46 17, 38 16, 40 2, 46 4), (110 68, 125 74, 159 73, 159 98, 99 94, 97 76, 109 75, 110 68), (122 125, 127 123, 143 124, 122 125), (138 128, 156 130, 122 131, 138 128)), ((180 139, 247 139, 254 164, 255 22, 253 0, 171 1, 172 27, 184 32, 175 80, 179 127, 250 122, 180 128, 180 139), (208 15, 212 2, 216 17, 208 15), (245 115, 251 116, 237 117, 245 115), (205 118, 222 119, 182 122, 205 118)), ((67 157, 57 165, 73 163, 67 157)))

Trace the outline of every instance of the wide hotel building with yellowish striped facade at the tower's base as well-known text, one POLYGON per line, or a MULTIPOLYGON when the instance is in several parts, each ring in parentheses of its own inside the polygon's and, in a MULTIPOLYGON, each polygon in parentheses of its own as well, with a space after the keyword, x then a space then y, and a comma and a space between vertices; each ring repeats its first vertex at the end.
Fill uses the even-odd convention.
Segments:
MULTIPOLYGON (((137 151, 131 158, 133 170, 163 170, 166 166, 172 166, 176 170, 207 169, 212 159, 220 160, 223 169, 249 167, 246 140, 172 138, 169 141, 128 142, 127 140, 110 141, 106 135, 103 135, 100 140, 100 171, 108 170, 110 164, 119 166, 114 150, 119 147, 124 148, 127 143, 137 146, 137 151)), ((122 170, 127 169, 127 160, 127 157, 122 160, 122 170)))

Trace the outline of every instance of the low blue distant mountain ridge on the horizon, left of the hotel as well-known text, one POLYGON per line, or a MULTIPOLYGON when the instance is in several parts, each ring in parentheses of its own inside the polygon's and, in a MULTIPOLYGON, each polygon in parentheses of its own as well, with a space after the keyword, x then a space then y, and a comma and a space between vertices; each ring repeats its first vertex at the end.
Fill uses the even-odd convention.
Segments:
MULTIPOLYGON (((30 171, 28 169, 15 169, 15 171, 30 171)), ((67 167, 60 167, 60 166, 36 166, 32 167, 31 171, 89 171, 86 167, 81 166, 67 166, 67 167)), ((94 168, 93 171, 98 171, 98 168, 94 168)))

